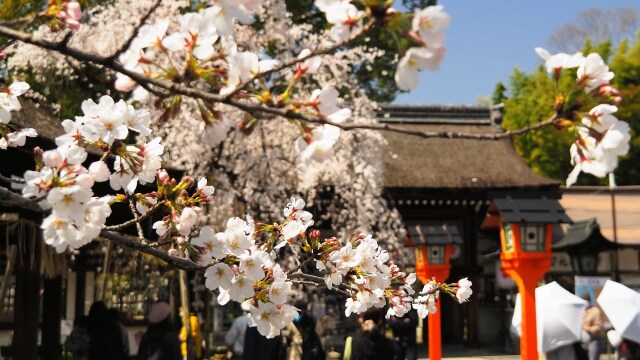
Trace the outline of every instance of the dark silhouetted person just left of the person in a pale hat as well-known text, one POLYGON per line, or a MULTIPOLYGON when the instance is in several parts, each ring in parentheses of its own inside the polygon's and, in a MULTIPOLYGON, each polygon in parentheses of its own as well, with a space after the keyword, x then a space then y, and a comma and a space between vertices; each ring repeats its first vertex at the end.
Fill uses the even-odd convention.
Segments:
POLYGON ((96 301, 89 309, 89 359, 127 359, 122 344, 120 327, 109 314, 102 301, 96 301))

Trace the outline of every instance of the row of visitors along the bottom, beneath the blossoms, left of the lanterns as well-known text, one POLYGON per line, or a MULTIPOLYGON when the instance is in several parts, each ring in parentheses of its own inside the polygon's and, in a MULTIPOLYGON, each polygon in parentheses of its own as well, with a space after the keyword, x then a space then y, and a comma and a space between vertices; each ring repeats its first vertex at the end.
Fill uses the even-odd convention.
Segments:
MULTIPOLYGON (((417 314, 389 319, 385 324, 384 311, 367 311, 358 319, 358 329, 347 339, 344 355, 331 348, 335 310, 327 311, 323 299, 314 294, 310 301, 298 301, 299 316, 280 336, 267 339, 257 328, 249 326, 251 303, 241 304, 242 314, 234 319, 225 335, 227 359, 234 360, 343 360, 416 359, 417 314), (394 339, 385 336, 386 325, 393 330, 394 339), (338 357, 339 356, 339 357, 338 357)), ((136 360, 201 360, 203 359, 200 320, 195 314, 188 317, 179 310, 180 319, 189 321, 175 326, 171 306, 163 301, 150 306, 148 327, 139 338, 137 353, 130 356, 129 334, 118 319, 115 309, 103 302, 95 302, 89 315, 76 319, 65 349, 74 360, 132 359, 136 360)), ((183 320, 184 321, 184 320, 183 320)), ((134 348, 135 350, 135 348, 134 348)))

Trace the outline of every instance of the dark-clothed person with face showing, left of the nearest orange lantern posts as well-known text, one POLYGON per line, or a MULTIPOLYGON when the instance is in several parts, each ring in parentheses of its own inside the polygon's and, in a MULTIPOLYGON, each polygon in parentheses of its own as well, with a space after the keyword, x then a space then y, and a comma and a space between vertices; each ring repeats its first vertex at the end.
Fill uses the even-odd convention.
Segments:
POLYGON ((353 336, 351 360, 393 360, 395 347, 384 336, 384 315, 381 309, 365 311, 361 329, 353 336))

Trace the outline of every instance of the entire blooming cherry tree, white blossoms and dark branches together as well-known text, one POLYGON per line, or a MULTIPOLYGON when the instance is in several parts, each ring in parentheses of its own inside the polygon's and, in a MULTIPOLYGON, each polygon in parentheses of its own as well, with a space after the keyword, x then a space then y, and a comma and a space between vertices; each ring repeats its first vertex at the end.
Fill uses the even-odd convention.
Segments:
MULTIPOLYGON (((3 194, 20 199, 16 201, 24 206, 38 204, 46 215, 41 227, 47 244, 64 252, 101 237, 156 256, 179 269, 202 271, 206 288, 217 295, 220 304, 253 300, 251 326, 256 326, 267 337, 278 335, 298 315, 299 309, 287 302, 294 287, 302 284, 324 284, 345 295, 347 316, 372 307, 389 306, 387 316, 402 316, 414 308, 425 317, 435 311, 435 301, 441 294, 455 297, 459 302, 468 300, 472 291, 471 282, 466 278, 452 284, 430 281, 416 293, 415 274, 403 272, 392 260, 390 250, 397 252, 397 247, 382 246, 366 231, 354 234, 343 231, 339 237, 322 238, 319 231, 311 229, 315 220, 305 210, 306 203, 300 197, 291 198, 281 212, 282 217, 271 215, 271 219, 261 222, 249 215, 243 219, 231 214, 224 216, 219 224, 207 225, 207 217, 212 216, 206 213, 207 206, 218 196, 224 198, 224 193, 218 191, 214 196, 214 187, 209 185, 207 177, 198 182, 191 176, 178 180, 163 169, 167 164, 164 159, 169 157, 168 164, 171 160, 190 162, 192 170, 200 170, 200 175, 207 176, 209 174, 198 169, 202 164, 195 164, 198 156, 194 155, 218 146, 242 149, 238 153, 244 160, 237 162, 237 167, 226 167, 227 172, 218 184, 231 183, 232 178, 242 179, 244 174, 245 186, 229 191, 249 199, 248 203, 255 201, 255 208, 279 206, 274 201, 263 200, 271 200, 270 196, 276 191, 271 189, 272 183, 268 183, 263 185, 269 188, 264 191, 266 197, 251 200, 256 198, 252 193, 256 187, 247 184, 259 182, 260 179, 253 178, 264 177, 264 174, 252 179, 246 174, 254 168, 259 172, 273 171, 274 163, 288 166, 277 168, 277 175, 291 169, 292 163, 298 170, 295 180, 291 181, 293 185, 283 185, 278 196, 284 192, 282 189, 295 188, 297 184, 311 189, 322 180, 335 181, 338 190, 347 186, 368 188, 378 190, 379 195, 380 173, 371 165, 379 159, 365 153, 375 148, 370 146, 371 142, 380 144, 382 140, 372 133, 364 133, 367 140, 362 140, 359 135, 363 133, 357 131, 383 129, 383 126, 367 120, 367 116, 373 117, 374 106, 358 92, 357 86, 353 86, 355 90, 339 86, 338 81, 343 81, 340 71, 345 72, 352 63, 362 61, 350 55, 349 46, 378 26, 408 40, 410 46, 401 45, 404 47, 398 49, 402 56, 395 79, 401 89, 415 88, 417 72, 437 69, 443 59, 444 30, 450 18, 442 6, 418 9, 406 16, 392 8, 393 1, 316 0, 315 6, 330 24, 328 31, 320 35, 300 31, 295 40, 283 36, 279 39, 280 45, 274 45, 276 51, 271 51, 268 43, 272 39, 261 37, 261 31, 249 24, 258 14, 274 28, 287 28, 290 23, 282 16, 286 8, 283 9, 281 1, 215 0, 198 11, 183 11, 178 19, 169 15, 187 9, 186 2, 167 2, 162 6, 161 3, 150 5, 141 21, 128 27, 131 32, 123 37, 124 42, 114 45, 112 51, 84 48, 85 44, 91 47, 102 42, 83 41, 82 46, 74 43, 73 31, 77 31, 79 40, 76 41, 89 36, 82 35, 85 30, 79 26, 81 11, 75 2, 49 3, 47 11, 39 16, 49 21, 49 29, 54 32, 37 29, 42 36, 0 25, 0 36, 26 44, 27 48, 35 46, 108 69, 114 74, 115 88, 131 92, 130 102, 116 101, 110 95, 101 96, 97 102, 87 99, 81 106, 82 115, 64 120, 64 134, 55 139, 57 148, 35 150, 36 167, 23 176, 22 198, 0 188, 3 194), (164 11, 164 16, 154 16, 156 10, 160 14, 164 11), (60 31, 64 35, 55 33, 60 31), (334 59, 327 61, 329 55, 334 59), (192 128, 196 131, 184 131, 183 123, 175 121, 179 117, 195 122, 197 125, 192 128), (283 126, 286 123, 288 127, 283 126), (190 137, 179 142, 188 143, 194 153, 174 146, 177 142, 170 133, 173 136, 197 134, 198 140, 190 137), (260 136, 262 140, 254 144, 239 140, 246 135, 260 136), (280 147, 269 146, 274 143, 280 147), (347 146, 350 147, 346 148, 348 151, 342 149, 342 156, 356 159, 349 165, 353 164, 355 172, 364 174, 358 178, 361 186, 344 181, 346 172, 336 164, 327 166, 333 169, 318 170, 322 164, 331 162, 341 147, 347 146), (368 151, 359 152, 357 146, 366 146, 368 151), (89 151, 98 152, 100 159, 87 164, 89 151), (274 152, 279 153, 276 156, 279 160, 284 160, 272 161, 274 152), (288 154, 296 157, 287 157, 288 154), (94 184, 107 180, 113 194, 95 196, 94 184), (153 190, 148 191, 149 187, 153 190), (106 225, 111 206, 116 203, 129 205, 131 220, 106 225), (166 243, 165 247, 157 245, 160 241, 148 239, 149 234, 145 235, 142 229, 142 221, 154 214, 159 215, 152 226, 154 236, 166 243), (136 227, 137 237, 119 232, 129 226, 136 227), (287 262, 280 256, 285 252, 295 254, 297 261, 287 262), (307 264, 315 264, 317 273, 304 272, 307 264)), ((115 6, 109 11, 121 10, 115 6)), ((123 18, 105 13, 111 15, 110 21, 123 18)), ((109 25, 111 31, 114 26, 109 25)), ((84 34, 90 32, 91 29, 84 34)), ((20 46, 23 45, 17 45, 18 54, 23 49, 20 46)), ((605 99, 615 93, 607 88, 613 74, 597 55, 550 55, 543 50, 538 53, 554 74, 578 67, 576 91, 605 99)), ((376 54, 362 56, 375 59, 376 54)), ((17 64, 19 60, 18 56, 12 61, 17 64)), ((10 124, 12 112, 20 110, 17 96, 27 89, 29 85, 20 81, 1 89, 2 149, 23 146, 26 137, 36 135, 33 129, 19 129, 10 124)), ((617 157, 628 151, 625 144, 629 141, 628 126, 612 115, 617 108, 596 106, 578 122, 574 117, 582 102, 576 102, 575 96, 566 99, 573 102, 563 100, 556 107, 554 117, 538 127, 577 128, 578 140, 571 150, 577 169, 575 176, 580 171, 598 175, 611 171, 617 157)), ((399 130, 389 126, 384 129, 399 130)), ((419 131, 414 134, 441 136, 419 131)), ((478 135, 452 137, 477 138, 478 135)), ((224 168, 224 155, 228 153, 218 150, 217 154, 217 168, 224 168)), ((278 176, 272 177, 270 180, 275 183, 287 182, 275 179, 278 176)), ((357 207, 360 194, 353 190, 341 195, 357 207)), ((370 199, 371 195, 368 196, 370 199)), ((368 208, 359 208, 356 215, 369 225, 383 218, 400 227, 397 216, 381 215, 385 211, 384 206, 379 205, 384 202, 371 200, 367 202, 368 208)))

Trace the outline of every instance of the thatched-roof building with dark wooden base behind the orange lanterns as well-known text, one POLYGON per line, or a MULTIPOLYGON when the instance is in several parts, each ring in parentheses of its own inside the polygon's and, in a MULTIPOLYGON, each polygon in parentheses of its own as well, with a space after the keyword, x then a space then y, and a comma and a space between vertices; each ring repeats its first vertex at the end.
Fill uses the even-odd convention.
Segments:
POLYGON ((487 107, 385 105, 378 119, 403 129, 443 135, 421 138, 385 132, 385 190, 405 223, 447 223, 457 227, 463 239, 451 260, 449 281, 468 276, 474 294, 462 306, 451 299, 443 300, 443 342, 497 342, 505 335, 497 320, 506 316, 506 292, 496 285, 496 258, 487 260, 482 253, 496 249, 499 233, 483 231, 480 225, 493 199, 557 199, 561 195, 559 182, 534 174, 509 139, 445 138, 453 133, 501 132, 499 114, 492 117, 487 107))

